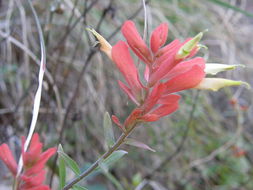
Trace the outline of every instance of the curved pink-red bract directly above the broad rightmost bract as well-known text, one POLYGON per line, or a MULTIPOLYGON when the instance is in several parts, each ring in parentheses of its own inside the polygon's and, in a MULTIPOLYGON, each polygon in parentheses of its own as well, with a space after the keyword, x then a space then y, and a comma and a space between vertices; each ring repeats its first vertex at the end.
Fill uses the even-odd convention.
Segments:
POLYGON ((178 63, 168 74, 164 77, 165 79, 171 79, 179 74, 189 71, 193 66, 199 66, 203 70, 205 69, 205 60, 202 57, 196 57, 191 60, 182 61, 178 63))

